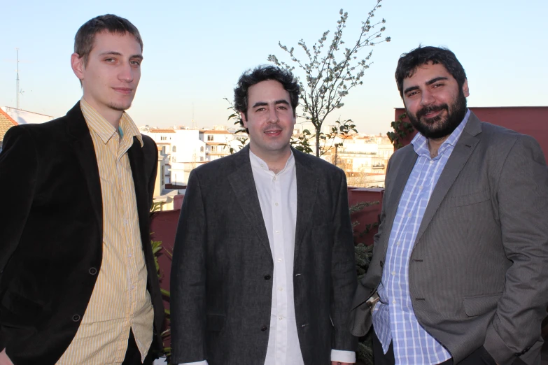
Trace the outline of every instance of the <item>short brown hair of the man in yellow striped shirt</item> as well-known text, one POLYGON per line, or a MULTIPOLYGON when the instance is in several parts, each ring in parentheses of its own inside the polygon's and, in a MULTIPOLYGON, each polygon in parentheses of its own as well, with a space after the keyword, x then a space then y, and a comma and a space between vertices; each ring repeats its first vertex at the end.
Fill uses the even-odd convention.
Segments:
POLYGON ((141 52, 143 51, 141 34, 139 34, 139 30, 137 30, 132 22, 129 22, 129 20, 119 17, 118 15, 99 15, 98 17, 94 17, 85 22, 82 27, 78 29, 76 36, 74 37, 74 53, 80 58, 84 57, 84 66, 86 66, 87 59, 90 57, 90 53, 93 49, 95 34, 101 33, 101 31, 118 34, 132 34, 139 45, 141 45, 141 52))

